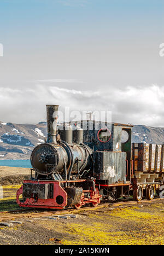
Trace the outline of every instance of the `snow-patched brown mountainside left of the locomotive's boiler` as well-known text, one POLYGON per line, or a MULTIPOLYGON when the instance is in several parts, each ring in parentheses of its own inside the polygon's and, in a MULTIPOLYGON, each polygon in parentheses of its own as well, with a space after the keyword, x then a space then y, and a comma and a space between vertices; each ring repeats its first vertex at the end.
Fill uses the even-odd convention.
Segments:
POLYGON ((43 143, 46 123, 22 125, 0 122, 0 160, 29 159, 34 147, 43 143))

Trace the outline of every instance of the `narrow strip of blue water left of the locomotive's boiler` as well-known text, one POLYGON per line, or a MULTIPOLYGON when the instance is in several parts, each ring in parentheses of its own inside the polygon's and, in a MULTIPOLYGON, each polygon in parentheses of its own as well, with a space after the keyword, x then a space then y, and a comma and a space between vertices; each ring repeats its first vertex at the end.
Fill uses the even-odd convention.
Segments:
POLYGON ((30 160, 0 160, 0 166, 32 168, 30 160))

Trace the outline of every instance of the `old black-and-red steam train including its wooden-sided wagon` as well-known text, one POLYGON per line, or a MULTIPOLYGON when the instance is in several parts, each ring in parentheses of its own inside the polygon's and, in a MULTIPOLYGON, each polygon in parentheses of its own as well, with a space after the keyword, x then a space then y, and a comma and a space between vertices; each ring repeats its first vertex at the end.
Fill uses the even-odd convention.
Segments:
POLYGON ((130 195, 137 201, 163 196, 164 145, 132 143, 132 125, 99 129, 87 120, 57 126, 58 106, 46 110, 48 136, 31 154, 31 178, 16 195, 21 207, 78 209, 130 195))

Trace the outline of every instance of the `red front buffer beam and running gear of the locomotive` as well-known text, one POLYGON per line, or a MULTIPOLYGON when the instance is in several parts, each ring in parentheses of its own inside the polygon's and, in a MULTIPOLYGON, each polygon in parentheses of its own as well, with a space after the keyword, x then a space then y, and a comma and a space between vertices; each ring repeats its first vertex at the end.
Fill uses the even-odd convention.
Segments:
POLYGON ((62 210, 67 207, 80 208, 86 203, 98 205, 101 195, 94 181, 33 181, 26 180, 16 194, 20 207, 62 210), (19 197, 22 195, 22 200, 19 197))

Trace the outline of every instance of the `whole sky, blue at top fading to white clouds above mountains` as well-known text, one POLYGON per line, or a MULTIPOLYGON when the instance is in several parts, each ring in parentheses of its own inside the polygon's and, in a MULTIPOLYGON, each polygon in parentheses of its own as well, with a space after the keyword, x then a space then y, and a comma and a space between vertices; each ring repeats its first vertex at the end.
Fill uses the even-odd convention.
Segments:
POLYGON ((1 0, 0 120, 45 104, 164 127, 163 0, 1 0))

